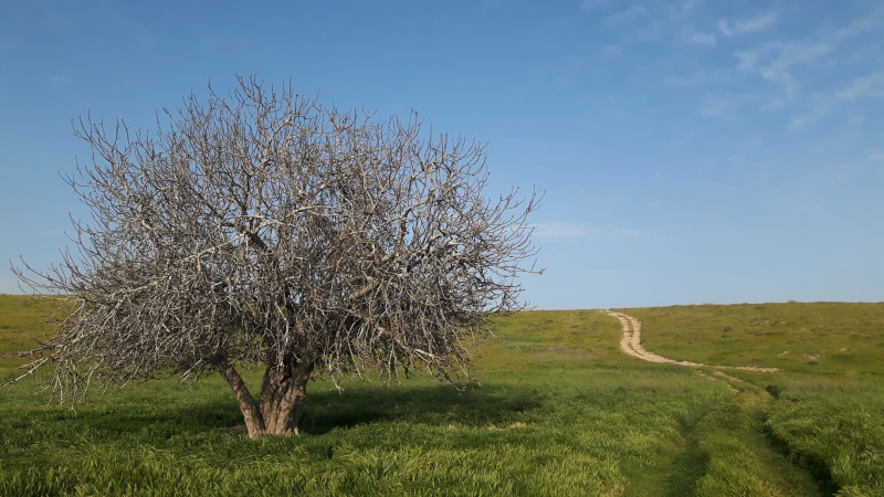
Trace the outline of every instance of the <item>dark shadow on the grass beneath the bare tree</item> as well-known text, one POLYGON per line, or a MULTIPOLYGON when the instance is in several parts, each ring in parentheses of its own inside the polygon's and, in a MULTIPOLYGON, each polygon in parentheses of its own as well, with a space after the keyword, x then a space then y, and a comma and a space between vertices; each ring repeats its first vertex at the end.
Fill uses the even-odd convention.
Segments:
MULTIPOLYGON (((345 392, 312 392, 305 401, 302 432, 322 435, 379 422, 407 421, 424 425, 457 424, 483 426, 512 423, 520 413, 540 408, 543 396, 535 390, 484 385, 459 392, 451 385, 388 388, 358 385, 345 392)), ((95 395, 76 411, 43 405, 36 409, 7 404, 0 427, 18 432, 20 445, 33 437, 169 440, 178 435, 242 429, 242 414, 229 391, 214 395, 188 396, 186 392, 150 398, 126 396, 126 392, 95 395)), ((243 429, 244 431, 244 429, 243 429)), ((3 436, 0 436, 3 438, 3 436)))

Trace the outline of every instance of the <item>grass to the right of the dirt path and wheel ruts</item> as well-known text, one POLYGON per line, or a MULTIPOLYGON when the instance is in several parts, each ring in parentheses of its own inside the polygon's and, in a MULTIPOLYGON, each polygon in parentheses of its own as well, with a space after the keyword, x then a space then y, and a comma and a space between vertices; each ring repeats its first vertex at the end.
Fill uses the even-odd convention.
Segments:
POLYGON ((645 345, 675 359, 781 368, 739 372, 768 393, 769 444, 825 495, 884 495, 884 304, 633 309, 645 345))

